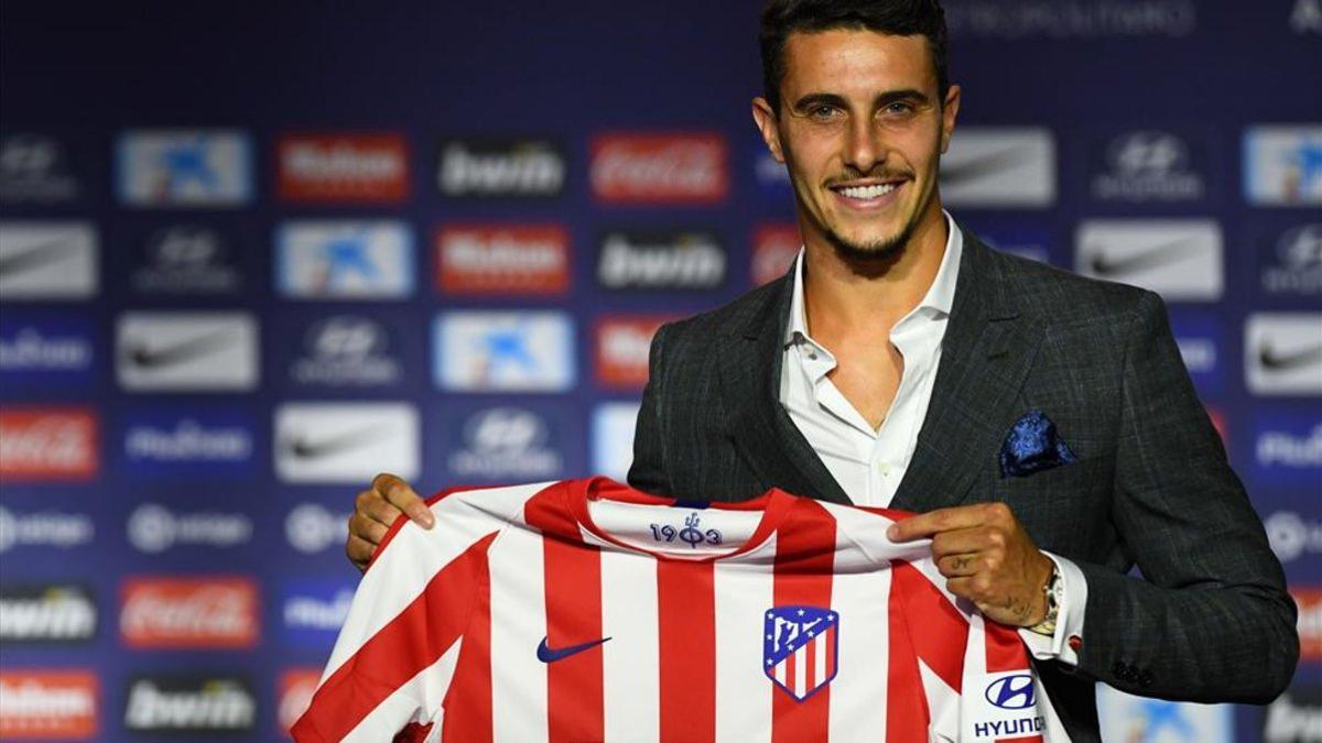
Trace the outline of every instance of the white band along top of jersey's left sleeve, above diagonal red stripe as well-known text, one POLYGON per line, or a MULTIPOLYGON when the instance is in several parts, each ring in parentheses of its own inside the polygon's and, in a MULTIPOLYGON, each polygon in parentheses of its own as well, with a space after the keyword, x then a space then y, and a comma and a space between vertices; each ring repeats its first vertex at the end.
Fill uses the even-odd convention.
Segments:
POLYGON ((321 681, 412 603, 446 565, 484 535, 520 521, 524 502, 546 485, 453 493, 431 506, 436 517, 431 530, 405 524, 358 584, 321 681))

